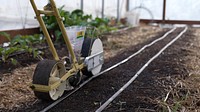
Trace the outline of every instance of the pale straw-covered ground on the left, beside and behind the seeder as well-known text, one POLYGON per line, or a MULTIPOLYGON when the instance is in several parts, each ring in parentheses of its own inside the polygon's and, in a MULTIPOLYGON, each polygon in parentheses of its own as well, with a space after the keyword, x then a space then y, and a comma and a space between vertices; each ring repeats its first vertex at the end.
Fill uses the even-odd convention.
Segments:
MULTIPOLYGON (((105 59, 109 60, 130 45, 139 45, 162 31, 163 29, 159 27, 140 26, 105 35, 102 38, 105 48, 105 59)), ((66 55, 63 50, 65 49, 58 49, 58 53, 66 55)), ((48 54, 51 57, 51 54, 48 52, 45 54, 45 57, 49 57, 48 54)), ((25 59, 26 57, 23 58, 23 60, 25 59)), ((20 63, 23 65, 14 70, 9 69, 12 66, 2 68, 2 65, 0 65, 0 111, 26 111, 27 108, 32 108, 29 111, 38 111, 49 104, 38 100, 29 88, 36 64, 29 65, 28 63, 34 62, 20 63), (24 65, 26 66, 24 67, 24 65), (7 73, 2 71, 7 71, 7 73), (35 105, 37 106, 35 107, 35 105)))

